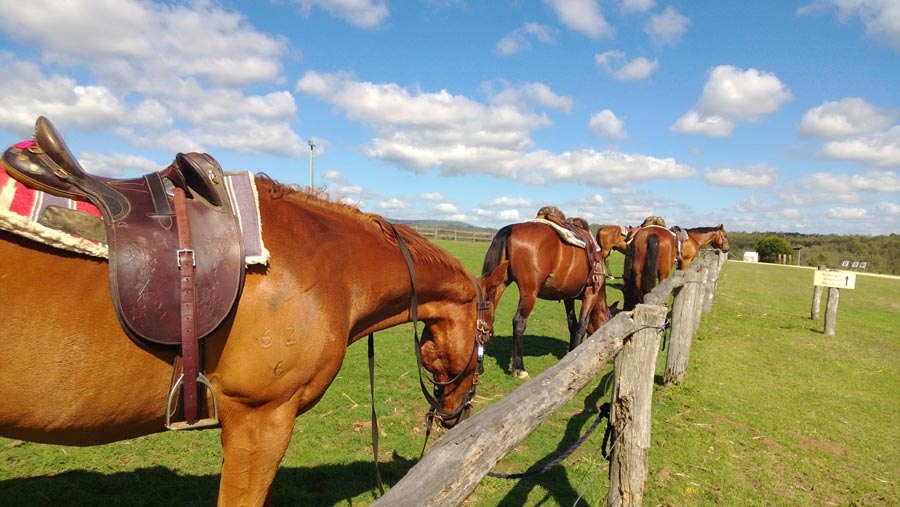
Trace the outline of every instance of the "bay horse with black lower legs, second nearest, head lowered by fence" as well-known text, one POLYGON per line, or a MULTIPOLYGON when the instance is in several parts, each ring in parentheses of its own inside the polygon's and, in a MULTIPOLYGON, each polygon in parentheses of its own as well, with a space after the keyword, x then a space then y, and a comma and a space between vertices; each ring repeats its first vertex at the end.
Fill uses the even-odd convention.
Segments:
MULTIPOLYGON (((553 227, 538 222, 507 225, 497 231, 484 257, 482 273, 493 275, 499 266, 509 263, 506 278, 497 287, 494 306, 511 283, 519 288, 519 306, 513 316, 511 373, 527 378, 522 358, 522 337, 528 316, 538 298, 562 300, 569 327, 569 350, 581 343, 588 321, 594 328, 609 319, 606 304, 606 280, 593 256, 585 249, 564 243, 553 227), (575 314, 575 300, 581 300, 581 312, 575 314)), ((491 276, 493 278, 493 276, 491 276)))

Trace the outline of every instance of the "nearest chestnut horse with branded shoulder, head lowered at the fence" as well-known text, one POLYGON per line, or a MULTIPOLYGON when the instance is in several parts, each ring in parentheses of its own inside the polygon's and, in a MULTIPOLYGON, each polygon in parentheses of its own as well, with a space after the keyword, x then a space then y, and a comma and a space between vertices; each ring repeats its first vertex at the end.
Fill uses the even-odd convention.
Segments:
MULTIPOLYGON (((413 294, 443 423, 468 415, 476 339, 493 321, 480 293, 490 300, 506 274, 503 264, 478 280, 408 227, 395 233, 266 176, 256 184, 270 261, 248 268, 236 309, 204 341, 224 455, 218 504, 228 506, 266 501, 294 419, 322 398, 348 345, 411 320, 413 294)), ((123 332, 107 264, 3 231, 0 258, 0 435, 83 446, 163 431, 175 352, 123 332)))

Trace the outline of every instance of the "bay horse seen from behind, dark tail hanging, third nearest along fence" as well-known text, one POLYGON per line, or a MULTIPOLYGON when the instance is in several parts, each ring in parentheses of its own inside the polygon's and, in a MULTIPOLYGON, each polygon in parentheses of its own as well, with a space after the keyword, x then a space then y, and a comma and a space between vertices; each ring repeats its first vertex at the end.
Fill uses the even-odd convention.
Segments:
POLYGON ((633 233, 625 252, 623 310, 633 310, 675 266, 677 245, 672 231, 658 225, 633 233))

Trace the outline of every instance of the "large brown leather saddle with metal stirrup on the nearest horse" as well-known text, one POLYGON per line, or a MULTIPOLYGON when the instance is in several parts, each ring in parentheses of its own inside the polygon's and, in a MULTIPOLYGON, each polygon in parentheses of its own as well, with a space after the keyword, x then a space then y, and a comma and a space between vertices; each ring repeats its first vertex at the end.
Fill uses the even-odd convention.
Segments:
POLYGON ((200 372, 199 341, 228 317, 244 283, 240 225, 219 163, 205 153, 179 153, 165 169, 139 178, 93 176, 43 116, 34 140, 7 149, 0 163, 28 187, 100 210, 110 294, 123 329, 142 347, 181 347, 176 374, 182 373, 173 378, 166 426, 217 424, 215 395, 200 372), (214 406, 203 420, 197 417, 198 383, 214 406), (182 386, 186 422, 172 423, 182 386))

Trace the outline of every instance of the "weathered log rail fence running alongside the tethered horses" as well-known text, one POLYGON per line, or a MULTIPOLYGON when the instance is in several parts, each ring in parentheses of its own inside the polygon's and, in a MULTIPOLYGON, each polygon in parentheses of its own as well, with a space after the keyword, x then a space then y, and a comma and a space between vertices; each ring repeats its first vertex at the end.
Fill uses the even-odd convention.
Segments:
POLYGON ((504 456, 615 360, 611 396, 610 506, 643 501, 650 407, 661 331, 674 295, 664 381, 685 377, 691 339, 713 295, 726 254, 707 252, 678 271, 632 312, 621 312, 556 365, 445 433, 373 506, 456 507, 504 456))

